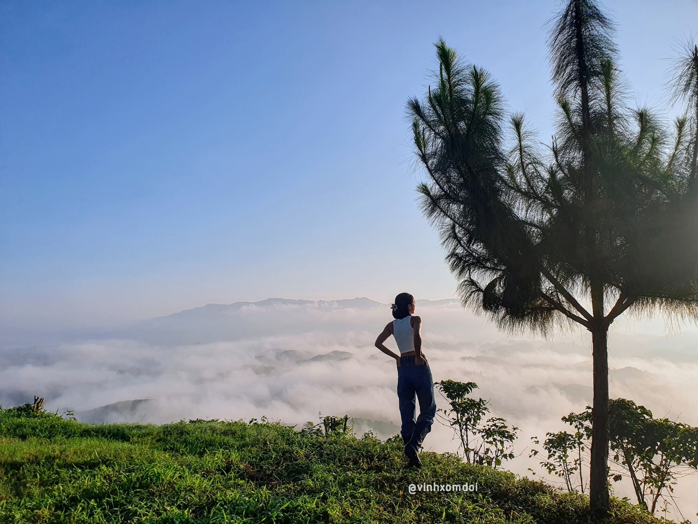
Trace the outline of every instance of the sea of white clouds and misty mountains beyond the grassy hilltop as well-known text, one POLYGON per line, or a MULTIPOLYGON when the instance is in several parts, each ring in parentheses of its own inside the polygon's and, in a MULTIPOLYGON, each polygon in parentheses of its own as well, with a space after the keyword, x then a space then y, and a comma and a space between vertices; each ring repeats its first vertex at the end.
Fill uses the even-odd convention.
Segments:
MULTIPOLYGON (((544 472, 528 458, 530 437, 568 429, 560 416, 592 399, 586 333, 551 340, 507 337, 456 300, 419 300, 423 349, 435 381, 475 381, 491 415, 521 428, 505 467, 544 472)), ((83 340, 0 349, 0 405, 46 399, 86 421, 166 423, 180 419, 280 419, 300 427, 322 415, 355 419, 355 430, 399 431, 394 361, 373 342, 392 316, 367 298, 311 302, 269 299, 207 305, 83 340)), ((611 398, 655 416, 698 425, 698 330, 667 336, 657 322, 618 319, 609 337, 611 398)), ((394 340, 387 345, 393 347, 394 340)), ((437 393, 438 407, 446 407, 437 393)), ((435 423, 424 442, 455 451, 452 430, 435 423)), ((555 480, 555 479, 550 479, 555 480)), ((616 483, 619 496, 630 486, 616 483)), ((698 511, 698 475, 675 497, 685 518, 698 511)), ((632 500, 632 499, 631 499, 632 500)))

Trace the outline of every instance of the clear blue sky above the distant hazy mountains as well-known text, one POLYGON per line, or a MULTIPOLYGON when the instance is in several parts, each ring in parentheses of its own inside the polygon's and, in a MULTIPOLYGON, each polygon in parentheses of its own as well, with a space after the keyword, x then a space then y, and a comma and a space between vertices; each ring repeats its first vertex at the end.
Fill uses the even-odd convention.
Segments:
MULTIPOLYGON (((660 106, 695 1, 608 1, 660 106)), ((454 296, 405 102, 443 36, 548 140, 554 1, 0 1, 0 326, 454 296)))

